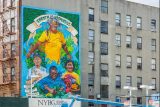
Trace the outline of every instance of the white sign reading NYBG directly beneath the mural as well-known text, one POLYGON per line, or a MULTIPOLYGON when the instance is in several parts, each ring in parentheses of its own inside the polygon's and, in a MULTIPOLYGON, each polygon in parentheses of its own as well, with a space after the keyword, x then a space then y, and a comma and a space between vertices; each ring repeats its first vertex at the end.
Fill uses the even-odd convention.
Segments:
MULTIPOLYGON (((69 106, 72 99, 29 98, 29 107, 62 107, 69 106)), ((73 107, 81 107, 79 101, 75 101, 73 107)))

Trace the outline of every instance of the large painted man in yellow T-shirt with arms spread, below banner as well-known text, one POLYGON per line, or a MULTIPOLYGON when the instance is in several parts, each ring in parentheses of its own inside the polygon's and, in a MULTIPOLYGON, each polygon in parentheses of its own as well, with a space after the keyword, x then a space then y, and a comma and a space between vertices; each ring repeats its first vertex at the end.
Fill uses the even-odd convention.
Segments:
POLYGON ((58 21, 53 18, 51 21, 49 21, 49 25, 49 30, 44 31, 42 33, 37 43, 33 47, 31 47, 29 53, 27 54, 27 58, 29 58, 31 54, 39 48, 39 46, 44 44, 44 52, 46 54, 46 57, 51 61, 55 61, 59 64, 61 48, 64 49, 68 58, 71 58, 71 55, 69 54, 68 49, 66 47, 64 35, 57 30, 59 26, 58 21))

